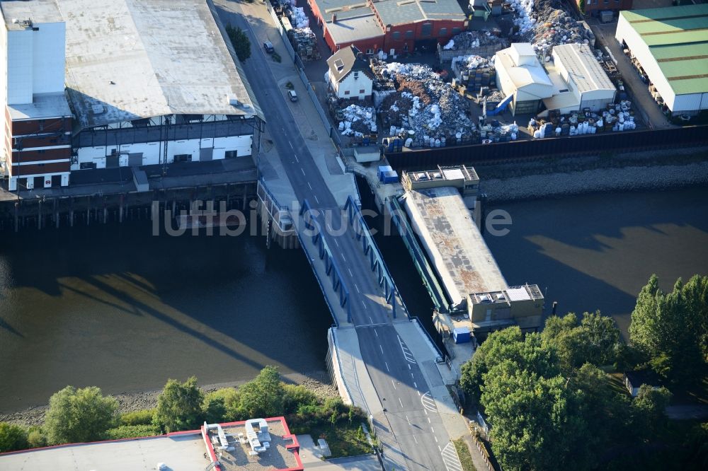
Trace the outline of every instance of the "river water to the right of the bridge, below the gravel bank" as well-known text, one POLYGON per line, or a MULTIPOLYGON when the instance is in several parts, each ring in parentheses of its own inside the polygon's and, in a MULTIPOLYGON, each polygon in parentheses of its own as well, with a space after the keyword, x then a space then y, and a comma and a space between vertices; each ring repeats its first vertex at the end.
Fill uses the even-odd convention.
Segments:
MULTIPOLYGON (((600 310, 627 334, 652 273, 662 289, 708 274, 708 189, 588 194, 490 205, 512 224, 485 233, 509 284, 536 283, 558 313, 600 310)), ((500 228, 503 226, 499 226, 500 228)))

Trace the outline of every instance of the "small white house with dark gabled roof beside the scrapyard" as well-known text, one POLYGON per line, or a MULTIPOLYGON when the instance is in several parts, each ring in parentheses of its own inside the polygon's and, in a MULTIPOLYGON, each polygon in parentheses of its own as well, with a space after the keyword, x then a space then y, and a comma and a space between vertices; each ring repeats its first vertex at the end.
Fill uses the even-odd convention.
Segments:
POLYGON ((329 66, 327 79, 337 98, 370 97, 374 85, 374 74, 369 62, 362 57, 355 46, 338 50, 327 59, 329 66))

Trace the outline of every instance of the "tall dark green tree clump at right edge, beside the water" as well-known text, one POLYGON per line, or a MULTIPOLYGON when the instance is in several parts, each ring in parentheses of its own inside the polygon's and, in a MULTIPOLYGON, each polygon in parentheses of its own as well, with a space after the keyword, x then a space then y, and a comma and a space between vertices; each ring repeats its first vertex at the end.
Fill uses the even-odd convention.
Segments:
POLYGON ((629 338, 664 378, 692 383, 702 377, 708 347, 708 277, 692 277, 663 293, 652 275, 632 311, 629 338))

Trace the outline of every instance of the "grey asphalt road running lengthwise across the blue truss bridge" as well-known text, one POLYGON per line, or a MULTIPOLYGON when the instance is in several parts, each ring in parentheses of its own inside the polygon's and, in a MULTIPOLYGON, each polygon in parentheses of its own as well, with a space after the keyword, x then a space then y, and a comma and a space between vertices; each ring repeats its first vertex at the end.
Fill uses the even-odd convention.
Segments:
MULTIPOLYGON (((270 39, 275 44, 280 39, 274 40, 272 34, 268 38, 263 28, 253 28, 251 23, 256 23, 256 18, 239 15, 241 8, 248 8, 246 5, 227 0, 219 0, 217 4, 224 5, 219 8, 224 23, 237 25, 249 35, 251 57, 243 63, 243 68, 265 114, 266 127, 297 199, 300 202, 307 199, 313 209, 319 210, 321 214, 316 219, 329 229, 323 236, 341 267, 343 283, 350 293, 351 315, 362 359, 385 409, 374 412, 374 421, 377 436, 384 446, 386 468, 461 471, 421 368, 396 334, 391 308, 382 298, 382 290, 352 229, 333 235, 341 224, 348 223, 346 213, 341 212, 329 191, 290 111, 290 107, 298 103, 285 99, 285 88, 278 87, 269 66, 272 59, 259 47, 264 40, 270 39), (334 215, 331 224, 322 216, 325 211, 332 211, 334 215)), ((253 7, 249 13, 252 11, 253 7)), ((290 65, 287 56, 283 61, 290 65)), ((295 66, 288 74, 297 75, 295 66)), ((309 96, 304 95, 300 100, 309 100, 309 96)), ((404 315, 401 311, 399 309, 400 315, 404 315)))

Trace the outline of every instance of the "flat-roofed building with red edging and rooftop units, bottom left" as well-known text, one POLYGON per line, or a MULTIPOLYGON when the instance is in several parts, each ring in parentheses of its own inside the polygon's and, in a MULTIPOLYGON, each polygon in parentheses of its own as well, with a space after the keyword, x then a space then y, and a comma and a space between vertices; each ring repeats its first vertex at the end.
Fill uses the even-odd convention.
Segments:
POLYGON ((297 437, 282 417, 124 440, 0 453, 4 470, 302 471, 297 437))

